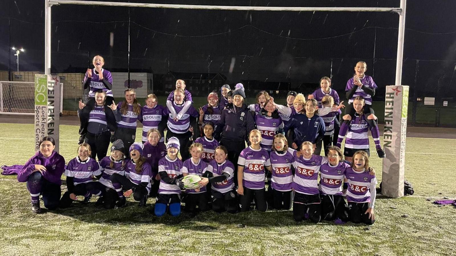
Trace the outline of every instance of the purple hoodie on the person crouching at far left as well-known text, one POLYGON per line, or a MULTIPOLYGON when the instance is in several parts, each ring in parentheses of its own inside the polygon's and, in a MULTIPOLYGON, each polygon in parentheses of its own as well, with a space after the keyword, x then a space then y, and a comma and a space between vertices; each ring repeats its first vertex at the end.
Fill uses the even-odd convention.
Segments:
POLYGON ((65 171, 65 159, 56 151, 53 151, 48 158, 44 157, 40 151, 36 152, 36 154, 27 161, 24 167, 22 167, 19 174, 17 174, 17 180, 19 182, 26 182, 30 174, 35 170, 35 164, 41 164, 46 167, 46 170, 43 171, 43 177, 49 182, 59 185, 62 184, 60 178, 65 171))

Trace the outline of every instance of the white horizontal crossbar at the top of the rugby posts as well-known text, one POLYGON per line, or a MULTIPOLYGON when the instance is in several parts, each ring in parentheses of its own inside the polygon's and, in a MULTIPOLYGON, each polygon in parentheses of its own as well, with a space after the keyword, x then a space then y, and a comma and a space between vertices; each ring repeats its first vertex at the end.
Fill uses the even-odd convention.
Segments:
POLYGON ((230 5, 174 5, 151 3, 98 2, 83 0, 49 0, 50 5, 104 5, 197 10, 258 10, 258 11, 386 11, 400 12, 398 7, 288 7, 288 6, 230 6, 230 5))

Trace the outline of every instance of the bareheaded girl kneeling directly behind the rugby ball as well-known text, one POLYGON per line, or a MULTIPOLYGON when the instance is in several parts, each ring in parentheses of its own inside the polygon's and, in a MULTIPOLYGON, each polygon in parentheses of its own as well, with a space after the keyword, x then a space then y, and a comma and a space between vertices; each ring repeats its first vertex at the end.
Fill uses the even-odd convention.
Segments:
MULTIPOLYGON (((188 174, 202 176, 206 172, 207 163, 201 159, 203 151, 201 143, 193 143, 188 150, 192 157, 185 160, 182 164, 182 175, 184 177, 188 174)), ((185 211, 196 213, 197 211, 209 210, 205 186, 202 186, 199 189, 186 189, 185 193, 187 194, 185 199, 185 211)))

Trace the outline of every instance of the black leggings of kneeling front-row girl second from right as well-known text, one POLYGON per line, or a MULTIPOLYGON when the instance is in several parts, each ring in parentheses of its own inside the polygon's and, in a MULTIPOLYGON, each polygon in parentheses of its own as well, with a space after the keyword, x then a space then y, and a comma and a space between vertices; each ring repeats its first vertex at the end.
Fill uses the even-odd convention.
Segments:
POLYGON ((348 207, 342 195, 321 195, 321 218, 348 221, 348 207))

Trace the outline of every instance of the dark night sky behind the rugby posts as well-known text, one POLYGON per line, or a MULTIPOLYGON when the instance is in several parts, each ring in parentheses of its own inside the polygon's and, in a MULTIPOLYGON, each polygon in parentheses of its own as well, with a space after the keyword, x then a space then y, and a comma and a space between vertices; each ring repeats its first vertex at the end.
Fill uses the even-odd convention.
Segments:
MULTIPOLYGON (((191 2, 399 7, 399 0, 191 2)), ((456 1, 409 0, 406 12, 403 84, 420 92, 439 90, 456 96, 456 1)), ((53 6, 52 72, 85 72, 96 54, 104 56, 106 69, 126 71, 128 20, 127 7, 53 6)), ((364 60, 367 73, 384 87, 394 83, 398 20, 399 15, 383 12, 130 8, 130 70, 222 73, 227 82, 290 82, 292 87, 332 75, 333 87, 342 90, 356 61, 364 60)), ((16 70, 11 46, 26 49, 20 55, 21 71, 44 70, 44 1, 1 0, 0 46, 0 70, 8 70, 9 60, 11 70, 16 70)))

